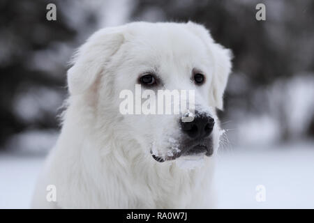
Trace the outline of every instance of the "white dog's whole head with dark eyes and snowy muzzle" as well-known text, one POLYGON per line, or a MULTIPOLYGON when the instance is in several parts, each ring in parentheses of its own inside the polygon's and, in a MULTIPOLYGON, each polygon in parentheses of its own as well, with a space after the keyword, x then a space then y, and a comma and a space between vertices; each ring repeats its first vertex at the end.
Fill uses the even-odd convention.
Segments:
POLYGON ((68 70, 68 87, 117 140, 135 140, 147 158, 164 162, 218 148, 215 110, 230 69, 230 51, 204 26, 135 22, 91 36, 68 70))

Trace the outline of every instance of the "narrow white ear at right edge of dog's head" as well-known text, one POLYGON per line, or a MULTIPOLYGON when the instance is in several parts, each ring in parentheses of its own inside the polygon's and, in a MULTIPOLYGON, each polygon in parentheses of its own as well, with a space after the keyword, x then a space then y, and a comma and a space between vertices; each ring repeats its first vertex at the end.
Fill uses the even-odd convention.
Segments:
POLYGON ((187 23, 190 30, 195 33, 209 48, 209 54, 214 59, 214 76, 211 82, 211 92, 209 99, 211 105, 218 109, 223 109, 223 93, 227 85, 227 79, 231 72, 232 52, 225 49, 222 45, 215 43, 207 29, 194 22, 187 23))

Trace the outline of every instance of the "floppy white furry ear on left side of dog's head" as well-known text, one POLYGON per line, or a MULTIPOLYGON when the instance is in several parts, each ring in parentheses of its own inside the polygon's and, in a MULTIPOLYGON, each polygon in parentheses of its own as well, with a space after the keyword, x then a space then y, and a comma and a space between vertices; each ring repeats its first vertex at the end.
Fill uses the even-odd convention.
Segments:
POLYGON ((122 43, 122 28, 101 29, 77 50, 73 66, 68 70, 68 89, 71 95, 84 93, 93 86, 106 63, 122 43))

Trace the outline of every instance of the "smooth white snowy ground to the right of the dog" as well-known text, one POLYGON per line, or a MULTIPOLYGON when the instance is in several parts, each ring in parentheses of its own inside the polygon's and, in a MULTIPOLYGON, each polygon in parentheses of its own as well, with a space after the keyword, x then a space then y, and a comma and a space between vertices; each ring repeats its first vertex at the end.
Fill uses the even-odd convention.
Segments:
POLYGON ((216 169, 219 208, 314 208, 314 146, 229 151, 216 169), (257 185, 266 201, 257 202, 257 185))

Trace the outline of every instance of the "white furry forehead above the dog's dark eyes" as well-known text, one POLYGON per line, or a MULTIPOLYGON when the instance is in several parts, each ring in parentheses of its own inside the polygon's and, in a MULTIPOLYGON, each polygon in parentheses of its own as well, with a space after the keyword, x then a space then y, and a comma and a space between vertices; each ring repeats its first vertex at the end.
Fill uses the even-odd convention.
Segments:
POLYGON ((207 46, 185 24, 139 25, 133 29, 129 43, 133 58, 161 68, 209 63, 207 46))

